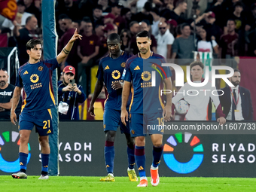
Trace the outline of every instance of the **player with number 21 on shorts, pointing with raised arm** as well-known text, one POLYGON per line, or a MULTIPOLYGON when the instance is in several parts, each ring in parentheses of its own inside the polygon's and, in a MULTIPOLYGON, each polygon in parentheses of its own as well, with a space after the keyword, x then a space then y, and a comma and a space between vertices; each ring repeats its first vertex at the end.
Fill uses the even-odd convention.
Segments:
POLYGON ((28 142, 30 133, 35 126, 41 145, 41 176, 39 179, 48 179, 48 162, 50 146, 48 136, 53 134, 52 116, 50 108, 55 105, 51 75, 59 63, 68 56, 72 46, 78 38, 81 39, 77 29, 66 44, 66 47, 53 59, 41 61, 42 41, 31 39, 26 44, 26 53, 29 54, 29 62, 19 68, 16 87, 14 89, 11 108, 11 122, 17 122, 15 109, 19 103, 21 90, 24 89, 26 98, 19 120, 20 131, 20 172, 12 174, 13 178, 27 178, 26 164, 29 154, 28 142))

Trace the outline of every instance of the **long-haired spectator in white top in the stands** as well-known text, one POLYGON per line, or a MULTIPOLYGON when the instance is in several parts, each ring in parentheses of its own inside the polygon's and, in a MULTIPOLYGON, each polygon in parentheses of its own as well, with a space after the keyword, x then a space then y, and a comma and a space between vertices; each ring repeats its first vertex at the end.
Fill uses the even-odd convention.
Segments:
POLYGON ((218 54, 218 44, 212 40, 210 31, 203 27, 197 40, 197 50, 200 52, 211 52, 218 54))

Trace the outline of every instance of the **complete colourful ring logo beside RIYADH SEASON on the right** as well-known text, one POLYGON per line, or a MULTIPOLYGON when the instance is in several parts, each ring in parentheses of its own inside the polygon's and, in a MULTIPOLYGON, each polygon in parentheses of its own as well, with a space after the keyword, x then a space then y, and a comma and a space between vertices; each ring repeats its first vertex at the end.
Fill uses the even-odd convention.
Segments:
POLYGON ((176 133, 163 146, 163 160, 169 169, 181 174, 194 172, 203 162, 203 145, 191 133, 176 133))

